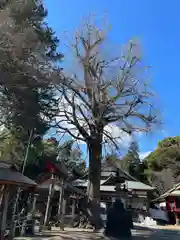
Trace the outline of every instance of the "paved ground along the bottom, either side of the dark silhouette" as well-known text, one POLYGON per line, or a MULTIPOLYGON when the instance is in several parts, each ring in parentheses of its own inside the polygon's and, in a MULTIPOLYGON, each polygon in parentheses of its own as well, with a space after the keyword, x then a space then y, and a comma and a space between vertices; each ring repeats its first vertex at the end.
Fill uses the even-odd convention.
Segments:
MULTIPOLYGON (((136 227, 132 230, 133 240, 179 240, 180 230, 148 229, 136 227)), ((16 238, 17 240, 102 240, 102 233, 93 233, 87 230, 66 229, 64 232, 53 230, 43 233, 43 236, 33 238, 16 238)))

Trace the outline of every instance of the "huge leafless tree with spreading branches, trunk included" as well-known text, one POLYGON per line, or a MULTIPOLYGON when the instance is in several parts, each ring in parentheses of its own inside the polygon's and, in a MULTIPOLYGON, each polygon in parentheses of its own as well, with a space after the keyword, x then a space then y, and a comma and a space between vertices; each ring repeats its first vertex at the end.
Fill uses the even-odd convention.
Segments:
POLYGON ((157 118, 152 93, 144 81, 146 67, 138 45, 130 41, 120 56, 103 59, 101 50, 108 31, 91 20, 75 33, 72 44, 83 74, 63 77, 60 73, 57 90, 61 97, 55 126, 59 133, 67 133, 88 146, 88 192, 92 214, 99 219, 102 147, 105 142, 118 147, 107 126, 118 126, 122 133, 131 135, 151 131, 157 118))

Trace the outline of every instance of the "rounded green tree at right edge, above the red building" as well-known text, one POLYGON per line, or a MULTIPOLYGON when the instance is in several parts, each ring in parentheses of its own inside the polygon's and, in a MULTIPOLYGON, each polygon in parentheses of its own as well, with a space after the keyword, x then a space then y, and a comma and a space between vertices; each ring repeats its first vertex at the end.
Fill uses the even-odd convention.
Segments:
POLYGON ((180 137, 168 137, 158 143, 157 148, 144 160, 144 172, 149 182, 163 193, 179 182, 180 137), (161 185, 161 186, 160 186, 161 185))

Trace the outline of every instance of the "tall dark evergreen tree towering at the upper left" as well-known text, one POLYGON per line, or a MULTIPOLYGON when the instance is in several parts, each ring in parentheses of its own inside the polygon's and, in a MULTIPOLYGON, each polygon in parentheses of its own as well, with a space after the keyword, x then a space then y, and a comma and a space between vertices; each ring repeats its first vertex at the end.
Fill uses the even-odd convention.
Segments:
POLYGON ((62 55, 46 16, 41 0, 9 0, 0 5, 1 120, 10 131, 18 129, 24 144, 31 131, 42 136, 56 114, 51 73, 62 55))

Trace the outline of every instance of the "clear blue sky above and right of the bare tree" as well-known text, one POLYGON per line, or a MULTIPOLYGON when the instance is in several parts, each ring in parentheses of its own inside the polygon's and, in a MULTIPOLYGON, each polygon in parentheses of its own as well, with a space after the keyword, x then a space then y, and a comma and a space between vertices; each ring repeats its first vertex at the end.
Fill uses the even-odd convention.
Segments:
MULTIPOLYGON (((47 21, 61 38, 89 13, 107 16, 110 39, 126 43, 140 39, 161 110, 164 131, 139 137, 141 152, 152 151, 164 137, 180 135, 180 1, 163 0, 45 0, 47 21)), ((60 49, 64 50, 63 44, 60 49)))

